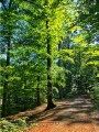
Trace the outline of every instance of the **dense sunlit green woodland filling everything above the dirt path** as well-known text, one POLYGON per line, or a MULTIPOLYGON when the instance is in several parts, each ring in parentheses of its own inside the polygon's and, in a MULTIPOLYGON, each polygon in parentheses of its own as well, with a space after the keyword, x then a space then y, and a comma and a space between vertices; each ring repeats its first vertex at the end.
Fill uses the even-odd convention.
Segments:
POLYGON ((1 116, 88 92, 98 108, 99 2, 0 0, 0 7, 1 116))

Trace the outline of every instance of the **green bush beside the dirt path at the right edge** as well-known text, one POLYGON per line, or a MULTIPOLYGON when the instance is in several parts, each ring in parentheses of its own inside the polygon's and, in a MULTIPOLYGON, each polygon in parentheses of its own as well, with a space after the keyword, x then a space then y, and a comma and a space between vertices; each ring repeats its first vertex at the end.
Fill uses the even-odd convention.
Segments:
POLYGON ((94 85, 90 90, 90 98, 94 100, 96 109, 99 109, 99 84, 94 85))

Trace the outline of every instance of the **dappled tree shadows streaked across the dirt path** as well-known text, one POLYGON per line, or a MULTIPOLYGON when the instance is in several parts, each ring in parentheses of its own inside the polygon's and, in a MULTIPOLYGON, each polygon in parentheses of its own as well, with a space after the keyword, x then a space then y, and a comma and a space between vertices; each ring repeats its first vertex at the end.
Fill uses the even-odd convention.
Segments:
POLYGON ((75 123, 95 123, 99 125, 99 111, 91 111, 92 103, 87 96, 80 96, 74 99, 58 101, 57 107, 44 111, 46 105, 37 107, 34 110, 20 112, 9 119, 19 117, 29 117, 29 124, 32 122, 66 122, 68 125, 75 123))

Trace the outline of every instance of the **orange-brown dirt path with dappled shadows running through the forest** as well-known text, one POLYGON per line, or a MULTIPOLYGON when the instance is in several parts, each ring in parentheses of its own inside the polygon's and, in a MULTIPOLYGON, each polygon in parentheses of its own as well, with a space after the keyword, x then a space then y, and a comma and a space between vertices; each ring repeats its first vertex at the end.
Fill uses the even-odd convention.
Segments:
POLYGON ((99 110, 92 111, 90 99, 79 96, 56 102, 54 109, 44 111, 46 105, 10 117, 29 117, 33 124, 23 132, 99 132, 99 110))

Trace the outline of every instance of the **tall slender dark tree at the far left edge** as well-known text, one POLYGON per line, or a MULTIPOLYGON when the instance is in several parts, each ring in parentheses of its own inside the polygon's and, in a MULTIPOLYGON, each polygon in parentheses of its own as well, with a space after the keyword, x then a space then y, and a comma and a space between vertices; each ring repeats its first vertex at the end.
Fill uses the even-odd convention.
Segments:
MULTIPOLYGON (((2 3, 2 7, 4 10, 4 13, 2 13, 3 19, 8 20, 8 23, 6 25, 7 28, 7 33, 4 35, 6 42, 4 44, 7 45, 7 63, 6 63, 6 67, 8 67, 10 65, 10 50, 11 50, 11 7, 12 7, 12 0, 8 1, 0 1, 2 3)), ((3 25, 4 28, 4 25, 3 25)), ((7 116, 7 101, 8 101, 8 79, 9 79, 9 75, 8 73, 6 73, 4 76, 4 85, 3 85, 3 99, 2 99, 2 117, 7 116)))

